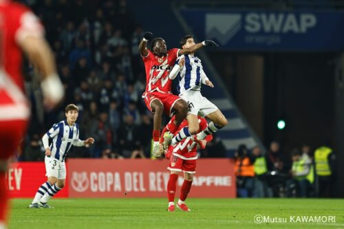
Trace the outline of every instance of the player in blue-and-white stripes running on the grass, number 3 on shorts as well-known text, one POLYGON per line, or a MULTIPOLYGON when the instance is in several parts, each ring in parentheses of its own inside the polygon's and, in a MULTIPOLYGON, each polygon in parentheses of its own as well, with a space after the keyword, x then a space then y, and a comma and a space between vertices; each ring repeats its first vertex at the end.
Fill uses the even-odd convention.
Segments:
POLYGON ((45 148, 45 171, 47 182, 43 183, 29 208, 50 208, 47 201, 65 186, 65 157, 73 146, 88 146, 94 143, 93 138, 87 140, 79 139, 79 127, 76 124, 78 118, 78 107, 74 104, 65 107, 66 120, 54 124, 54 126, 43 135, 43 146, 45 148), (49 144, 49 140, 52 143, 49 144))

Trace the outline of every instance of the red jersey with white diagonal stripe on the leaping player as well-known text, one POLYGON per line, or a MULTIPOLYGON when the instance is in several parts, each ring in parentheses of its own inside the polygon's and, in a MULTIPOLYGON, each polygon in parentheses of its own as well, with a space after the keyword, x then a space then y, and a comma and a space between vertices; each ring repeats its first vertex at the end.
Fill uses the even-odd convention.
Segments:
POLYGON ((148 50, 147 56, 142 56, 146 69, 146 92, 160 91, 171 93, 172 80, 169 79, 169 72, 175 65, 179 49, 174 48, 167 51, 166 56, 155 56, 148 50))

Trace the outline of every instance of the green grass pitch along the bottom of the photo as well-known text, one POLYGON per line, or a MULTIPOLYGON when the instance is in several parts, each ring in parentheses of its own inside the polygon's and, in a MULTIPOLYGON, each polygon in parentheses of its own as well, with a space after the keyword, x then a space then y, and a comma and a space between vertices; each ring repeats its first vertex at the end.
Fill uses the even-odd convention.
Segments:
POLYGON ((166 211, 166 199, 52 199, 54 209, 29 209, 13 199, 9 229, 62 228, 344 228, 344 199, 195 199, 191 212, 166 211), (270 221, 255 223, 255 215, 270 221), (293 216, 335 216, 335 222, 301 223, 293 216))

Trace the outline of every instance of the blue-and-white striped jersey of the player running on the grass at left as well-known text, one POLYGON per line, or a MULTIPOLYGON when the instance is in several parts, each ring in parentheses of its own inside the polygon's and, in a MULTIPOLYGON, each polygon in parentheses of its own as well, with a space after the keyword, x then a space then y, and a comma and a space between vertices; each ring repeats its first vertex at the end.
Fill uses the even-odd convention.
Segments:
POLYGON ((76 145, 81 141, 79 140, 78 124, 75 123, 73 127, 69 127, 67 120, 54 124, 46 134, 52 139, 50 144, 51 157, 55 157, 61 162, 65 161, 65 157, 72 145, 76 145))

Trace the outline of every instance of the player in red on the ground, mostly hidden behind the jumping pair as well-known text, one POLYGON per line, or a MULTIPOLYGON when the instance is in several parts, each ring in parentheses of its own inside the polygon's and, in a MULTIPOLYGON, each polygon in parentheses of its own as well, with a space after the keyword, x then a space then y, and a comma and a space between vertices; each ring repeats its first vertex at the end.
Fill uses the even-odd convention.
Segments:
MULTIPOLYGON (((175 116, 170 120, 169 124, 166 125, 162 131, 162 138, 160 138, 160 149, 162 149, 162 142, 164 142, 164 133, 169 131, 171 128, 171 123, 173 123, 175 116)), ((198 121, 200 122, 200 131, 208 127, 206 120, 198 116, 198 121)), ((178 127, 178 131, 181 131, 184 127, 187 127, 188 122, 186 119, 182 121, 178 127)), ((210 142, 213 139, 212 135, 208 135, 204 140, 203 144, 210 142)), ((169 210, 170 212, 175 210, 174 198, 175 189, 178 180, 178 175, 184 172, 184 182, 180 190, 180 198, 177 202, 177 207, 184 211, 190 211, 190 208, 186 206, 185 199, 188 196, 191 185, 193 182, 193 175, 196 173, 196 159, 197 159, 197 143, 193 142, 191 136, 185 138, 175 146, 170 145, 165 151, 165 156, 170 160, 168 169, 171 171, 169 182, 167 183, 167 195, 169 198, 169 210)))

